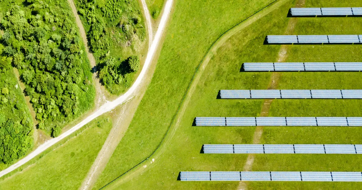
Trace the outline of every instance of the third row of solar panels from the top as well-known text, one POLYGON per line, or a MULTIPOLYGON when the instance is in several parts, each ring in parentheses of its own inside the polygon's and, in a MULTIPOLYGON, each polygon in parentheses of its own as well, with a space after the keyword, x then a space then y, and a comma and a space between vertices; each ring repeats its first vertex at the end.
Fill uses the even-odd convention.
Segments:
POLYGON ((244 71, 362 71, 362 62, 244 63, 244 71))

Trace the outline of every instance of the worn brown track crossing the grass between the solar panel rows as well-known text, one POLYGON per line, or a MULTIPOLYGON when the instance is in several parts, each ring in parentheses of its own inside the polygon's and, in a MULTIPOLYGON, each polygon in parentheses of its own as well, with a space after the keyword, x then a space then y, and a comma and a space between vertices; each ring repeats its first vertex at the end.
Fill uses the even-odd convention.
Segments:
MULTIPOLYGON (((305 4, 305 0, 299 0, 298 3, 296 4, 296 8, 301 8, 303 7, 303 5, 305 4)), ((298 18, 290 18, 288 21, 288 25, 287 25, 287 29, 285 31, 285 35, 290 35, 294 32, 294 28, 296 25, 296 22, 298 21, 298 18)), ((288 50, 290 50, 291 46, 290 45, 281 45, 280 50, 278 52, 278 59, 277 62, 285 62, 287 60, 287 52, 288 50)), ((270 77, 270 82, 268 85, 268 90, 270 89, 276 89, 278 87, 279 84, 279 79, 280 79, 280 72, 272 72, 271 73, 271 77, 270 77)), ((269 110, 270 110, 270 106, 273 103, 274 99, 265 99, 264 103, 261 107, 261 113, 260 113, 260 117, 268 117, 269 116, 269 110)), ((253 144, 259 144, 260 143, 260 139, 262 137, 263 134, 263 128, 264 126, 257 126, 254 132, 254 136, 253 136, 253 144)), ((252 169, 253 163, 254 163, 254 158, 255 155, 254 154, 248 154, 247 157, 247 161, 244 164, 244 168, 243 171, 250 171, 252 169)), ((240 182, 239 188, 238 189, 247 189, 247 184, 245 182, 240 182)))

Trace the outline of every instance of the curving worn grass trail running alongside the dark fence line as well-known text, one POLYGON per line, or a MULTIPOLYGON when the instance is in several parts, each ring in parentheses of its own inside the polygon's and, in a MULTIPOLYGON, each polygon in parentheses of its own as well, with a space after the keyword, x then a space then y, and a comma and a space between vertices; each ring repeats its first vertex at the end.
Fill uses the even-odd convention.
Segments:
POLYGON ((108 185, 104 186, 104 188, 106 189, 115 189, 117 188, 117 186, 123 182, 129 181, 132 178, 141 175, 143 172, 145 172, 146 170, 152 168, 155 164, 155 162, 157 162, 158 158, 167 150, 168 146, 171 143, 171 139, 173 138, 174 134, 176 133, 181 118, 183 117, 186 108, 189 105, 191 96, 193 94, 193 92, 196 89, 196 86, 202 76, 203 71, 205 71, 205 68, 207 67, 207 64, 210 62, 212 56, 216 53, 216 51, 219 49, 219 47, 223 46, 224 43, 233 35, 239 33, 241 30, 243 30, 244 28, 246 28, 247 26, 253 24, 254 22, 256 22, 257 20, 259 20, 260 18, 264 17, 266 14, 269 14, 271 11, 279 8, 280 6, 282 6, 284 3, 286 3, 289 0, 276 0, 273 3, 269 4, 268 6, 262 8, 261 10, 259 10, 257 13, 254 13, 252 16, 246 18, 245 20, 241 21, 239 24, 237 24, 236 26, 232 27, 231 29, 227 30, 224 34, 222 34, 215 42, 214 44, 212 44, 211 48, 209 49, 209 51, 207 52, 207 54, 205 55, 204 59, 202 60, 202 62, 200 63, 197 71, 195 72, 195 75, 193 77, 193 79, 191 80, 191 83, 189 85, 189 88, 185 94, 184 99, 182 100, 180 109, 178 110, 178 112, 176 113, 176 116, 174 118, 175 123, 171 122, 171 127, 169 128, 168 132, 166 133, 163 142, 160 143, 160 146, 158 149, 155 150, 155 152, 153 152, 149 157, 147 157, 147 159, 145 159, 144 161, 140 162, 138 165, 134 166, 133 168, 131 168, 129 171, 127 171, 126 173, 122 174, 121 176, 119 176, 118 178, 116 178, 115 180, 113 180, 112 182, 108 183, 108 185), (143 167, 142 163, 144 163, 145 161, 147 161, 148 159, 155 159, 156 161, 151 163, 151 164, 147 164, 147 167, 143 167))

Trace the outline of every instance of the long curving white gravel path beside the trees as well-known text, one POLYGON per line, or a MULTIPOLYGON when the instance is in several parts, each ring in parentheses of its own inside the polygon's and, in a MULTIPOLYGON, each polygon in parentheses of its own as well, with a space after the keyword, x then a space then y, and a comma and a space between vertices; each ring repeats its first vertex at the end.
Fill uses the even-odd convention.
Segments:
POLYGON ((68 135, 70 135, 73 132, 75 132, 76 130, 80 129, 85 124, 92 121, 93 119, 97 118, 98 116, 100 116, 110 110, 113 110, 116 106, 131 100, 135 96, 136 90, 138 90, 140 88, 140 86, 144 85, 144 81, 145 81, 145 78, 147 77, 146 75, 147 75, 148 69, 150 68, 150 65, 151 65, 151 61, 153 59, 153 56, 155 55, 155 52, 159 46, 161 37, 164 33, 164 28, 165 28, 166 22, 169 18, 169 13, 171 11, 171 5, 172 5, 172 0, 168 0, 165 5, 164 14, 161 17, 159 27, 157 29, 155 37, 153 38, 152 45, 147 52, 146 60, 144 62, 142 70, 141 70, 139 76, 137 77, 137 79, 135 80, 135 82, 132 84, 132 86, 127 90, 127 92, 124 93, 123 95, 119 96, 117 99, 115 99, 112 102, 107 101, 105 104, 98 107, 96 111, 94 111, 92 114, 90 114, 83 121, 79 122, 78 124, 76 124, 75 126, 70 128, 69 130, 65 131, 63 134, 59 135, 58 137, 46 141, 45 143, 40 145, 37 149, 35 149, 33 152, 31 152, 27 156, 25 156, 23 159, 17 161, 15 164, 9 166, 8 168, 0 171, 0 177, 17 169, 21 165, 23 165, 26 162, 28 162, 29 160, 33 159, 35 156, 39 155, 41 152, 45 151, 47 148, 51 147, 55 143, 58 143, 60 140, 66 138, 68 135))

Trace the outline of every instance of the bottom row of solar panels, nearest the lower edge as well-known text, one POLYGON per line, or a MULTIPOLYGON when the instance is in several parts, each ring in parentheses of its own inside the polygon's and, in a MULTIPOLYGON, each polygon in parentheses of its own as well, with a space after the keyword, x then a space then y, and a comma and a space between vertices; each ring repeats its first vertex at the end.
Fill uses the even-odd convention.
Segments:
POLYGON ((180 172, 181 181, 362 181, 362 172, 180 172))

